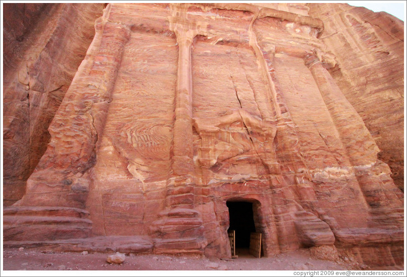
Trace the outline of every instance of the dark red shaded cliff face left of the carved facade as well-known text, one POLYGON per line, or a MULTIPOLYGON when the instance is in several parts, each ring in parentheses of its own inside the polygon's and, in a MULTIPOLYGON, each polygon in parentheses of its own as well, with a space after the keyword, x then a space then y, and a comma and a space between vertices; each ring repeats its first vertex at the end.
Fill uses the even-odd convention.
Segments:
POLYGON ((23 197, 103 4, 4 4, 3 200, 23 197))

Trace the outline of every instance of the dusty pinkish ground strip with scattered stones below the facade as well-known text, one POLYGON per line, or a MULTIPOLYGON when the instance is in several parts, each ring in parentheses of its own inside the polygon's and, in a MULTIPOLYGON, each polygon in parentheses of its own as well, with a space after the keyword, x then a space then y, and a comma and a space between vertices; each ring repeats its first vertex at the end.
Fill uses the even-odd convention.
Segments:
MULTIPOLYGON (((371 269, 349 258, 323 260, 308 249, 272 257, 255 258, 238 249, 238 258, 218 259, 200 255, 128 254, 122 264, 106 261, 112 253, 54 252, 35 249, 4 249, 4 270, 348 270, 371 269)), ((393 268, 395 269, 395 268, 393 268)), ((7 274, 7 271, 4 271, 7 274)), ((26 272, 29 275, 29 272, 26 272)), ((38 273, 38 271, 37 271, 38 273)), ((74 273, 74 272, 72 272, 74 273)), ((77 275, 77 274, 73 274, 77 275)), ((163 274, 164 275, 164 274, 163 274)))

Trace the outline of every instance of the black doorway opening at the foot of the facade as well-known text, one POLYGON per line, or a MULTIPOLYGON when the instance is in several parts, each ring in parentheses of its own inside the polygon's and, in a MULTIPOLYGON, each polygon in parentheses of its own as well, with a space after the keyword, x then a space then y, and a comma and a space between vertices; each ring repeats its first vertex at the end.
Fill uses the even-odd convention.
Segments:
POLYGON ((229 208, 229 230, 235 230, 236 248, 249 248, 250 233, 256 232, 253 219, 253 203, 226 202, 229 208))

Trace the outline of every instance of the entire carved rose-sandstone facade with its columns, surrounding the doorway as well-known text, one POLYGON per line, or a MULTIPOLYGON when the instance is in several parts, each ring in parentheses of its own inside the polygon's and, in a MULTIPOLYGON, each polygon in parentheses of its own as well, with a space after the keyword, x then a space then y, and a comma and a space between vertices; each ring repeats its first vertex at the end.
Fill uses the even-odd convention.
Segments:
POLYGON ((264 255, 402 264, 403 194, 315 7, 109 4, 5 209, 8 245, 148 237, 125 251, 231 257, 227 201, 243 201, 264 255))

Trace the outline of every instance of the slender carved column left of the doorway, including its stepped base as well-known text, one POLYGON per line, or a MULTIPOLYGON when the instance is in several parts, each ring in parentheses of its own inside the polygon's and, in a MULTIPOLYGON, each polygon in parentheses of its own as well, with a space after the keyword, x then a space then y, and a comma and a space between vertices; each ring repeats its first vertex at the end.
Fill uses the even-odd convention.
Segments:
POLYGON ((187 5, 170 6, 170 30, 178 43, 178 71, 175 92, 175 121, 172 142, 172 175, 167 180, 166 209, 152 222, 155 253, 203 253, 207 239, 203 235, 200 213, 194 208, 192 131, 191 44, 197 28, 187 21, 187 5))

